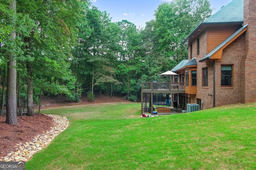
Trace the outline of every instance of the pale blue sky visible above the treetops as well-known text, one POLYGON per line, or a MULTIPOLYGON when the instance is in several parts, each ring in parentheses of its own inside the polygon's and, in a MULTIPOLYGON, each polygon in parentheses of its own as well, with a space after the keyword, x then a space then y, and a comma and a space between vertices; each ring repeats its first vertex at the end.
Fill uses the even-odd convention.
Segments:
MULTIPOLYGON (((112 22, 127 20, 137 28, 145 27, 146 22, 155 19, 158 6, 171 0, 91 0, 100 11, 106 11, 112 17, 112 22)), ((213 13, 232 0, 210 0, 213 13)))

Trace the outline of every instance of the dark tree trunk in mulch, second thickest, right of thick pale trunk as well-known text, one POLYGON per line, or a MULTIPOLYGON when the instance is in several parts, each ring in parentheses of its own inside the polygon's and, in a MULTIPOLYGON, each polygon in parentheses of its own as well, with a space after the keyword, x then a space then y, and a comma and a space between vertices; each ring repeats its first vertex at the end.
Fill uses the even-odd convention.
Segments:
POLYGON ((27 104, 28 104, 28 116, 34 116, 34 102, 33 102, 33 73, 32 73, 32 63, 27 62, 27 83, 28 83, 28 92, 27 92, 27 104))

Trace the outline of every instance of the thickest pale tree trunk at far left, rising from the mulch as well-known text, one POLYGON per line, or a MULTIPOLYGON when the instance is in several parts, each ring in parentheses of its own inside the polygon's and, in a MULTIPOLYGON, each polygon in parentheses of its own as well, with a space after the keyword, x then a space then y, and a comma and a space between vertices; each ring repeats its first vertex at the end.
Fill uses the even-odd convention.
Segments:
MULTIPOLYGON (((14 11, 16 14, 16 0, 10 1, 10 10, 14 11)), ((13 23, 16 21, 13 20, 13 23)), ((12 31, 11 39, 13 43, 16 39, 16 31, 12 31)), ((7 66, 7 99, 6 99, 6 123, 9 125, 18 124, 17 118, 17 94, 16 94, 16 55, 10 53, 8 56, 8 66, 7 66)))

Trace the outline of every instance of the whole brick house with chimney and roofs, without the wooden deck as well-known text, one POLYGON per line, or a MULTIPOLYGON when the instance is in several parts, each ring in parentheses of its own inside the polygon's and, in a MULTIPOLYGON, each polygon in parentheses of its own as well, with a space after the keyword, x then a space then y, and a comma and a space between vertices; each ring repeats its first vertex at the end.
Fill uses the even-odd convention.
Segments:
POLYGON ((201 109, 256 102, 256 0, 233 0, 184 41, 188 60, 171 71, 185 82, 172 100, 201 109))

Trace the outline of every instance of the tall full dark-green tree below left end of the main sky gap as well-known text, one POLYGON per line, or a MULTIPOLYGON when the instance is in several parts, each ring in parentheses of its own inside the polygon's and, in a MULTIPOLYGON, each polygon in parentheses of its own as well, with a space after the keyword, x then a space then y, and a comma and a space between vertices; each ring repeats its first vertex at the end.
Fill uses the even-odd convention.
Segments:
MULTIPOLYGON (((114 66, 117 60, 116 39, 118 26, 111 22, 109 14, 100 12, 92 6, 84 18, 78 34, 78 46, 73 49, 73 67, 76 77, 81 82, 90 81, 90 94, 94 94, 94 87, 99 90, 105 84, 118 83, 115 79, 114 66), (86 25, 86 23, 88 23, 86 25)), ((88 86, 89 87, 89 86, 88 86)))

